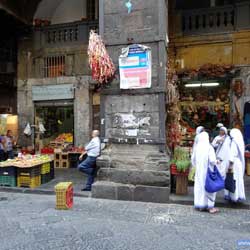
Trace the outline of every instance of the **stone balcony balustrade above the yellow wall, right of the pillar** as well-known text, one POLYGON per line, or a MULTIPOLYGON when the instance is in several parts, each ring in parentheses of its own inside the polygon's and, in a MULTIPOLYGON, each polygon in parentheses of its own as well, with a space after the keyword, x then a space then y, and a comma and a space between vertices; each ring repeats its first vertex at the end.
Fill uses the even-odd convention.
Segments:
MULTIPOLYGON (((178 14, 178 15, 176 15, 178 14)), ((250 2, 194 10, 180 10, 175 33, 187 35, 216 34, 250 29, 250 2)))

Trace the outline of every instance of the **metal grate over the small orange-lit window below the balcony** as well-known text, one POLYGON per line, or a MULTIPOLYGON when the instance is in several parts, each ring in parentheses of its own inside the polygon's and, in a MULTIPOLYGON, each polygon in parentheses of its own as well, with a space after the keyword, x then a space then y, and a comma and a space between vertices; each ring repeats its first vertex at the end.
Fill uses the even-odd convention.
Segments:
POLYGON ((44 77, 65 75, 65 56, 49 56, 44 58, 44 77))

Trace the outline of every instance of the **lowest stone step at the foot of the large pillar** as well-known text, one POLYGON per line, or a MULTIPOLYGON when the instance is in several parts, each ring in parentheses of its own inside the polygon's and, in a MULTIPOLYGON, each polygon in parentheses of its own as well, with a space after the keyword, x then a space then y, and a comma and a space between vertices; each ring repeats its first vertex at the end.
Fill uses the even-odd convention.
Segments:
POLYGON ((169 187, 155 187, 97 181, 92 186, 92 198, 142 201, 154 203, 169 202, 169 187))

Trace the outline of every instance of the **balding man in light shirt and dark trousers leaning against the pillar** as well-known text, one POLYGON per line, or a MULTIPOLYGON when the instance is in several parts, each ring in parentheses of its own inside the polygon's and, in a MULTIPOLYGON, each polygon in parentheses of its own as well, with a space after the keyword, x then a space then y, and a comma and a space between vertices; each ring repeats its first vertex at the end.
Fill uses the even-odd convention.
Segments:
POLYGON ((101 141, 98 130, 94 130, 92 132, 92 140, 85 147, 85 150, 86 151, 80 156, 79 159, 82 160, 83 156, 86 154, 87 158, 78 165, 78 170, 88 175, 86 186, 82 189, 82 191, 91 191, 96 172, 96 159, 101 154, 101 141))

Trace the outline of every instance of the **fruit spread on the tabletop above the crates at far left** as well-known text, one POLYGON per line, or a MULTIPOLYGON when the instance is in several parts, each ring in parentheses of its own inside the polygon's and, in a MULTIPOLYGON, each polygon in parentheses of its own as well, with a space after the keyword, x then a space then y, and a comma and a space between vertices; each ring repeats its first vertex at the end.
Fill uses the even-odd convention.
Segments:
POLYGON ((18 168, 29 168, 36 165, 52 161, 53 159, 49 155, 20 155, 13 160, 7 160, 0 162, 0 167, 18 167, 18 168))

